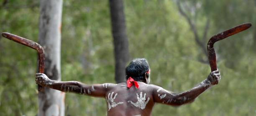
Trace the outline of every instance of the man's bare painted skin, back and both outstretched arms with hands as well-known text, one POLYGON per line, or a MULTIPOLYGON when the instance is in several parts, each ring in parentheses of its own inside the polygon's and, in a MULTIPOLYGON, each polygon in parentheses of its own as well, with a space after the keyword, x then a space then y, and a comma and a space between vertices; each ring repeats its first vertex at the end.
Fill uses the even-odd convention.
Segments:
MULTIPOLYGON (((146 78, 146 77, 145 77, 146 78)), ((108 116, 151 116, 155 103, 180 106, 191 103, 207 88, 220 81, 220 72, 209 76, 189 91, 173 93, 156 85, 138 81, 139 88, 126 88, 126 82, 87 85, 77 81, 53 81, 43 73, 36 73, 36 83, 63 92, 79 93, 106 99, 108 116), (141 93, 142 92, 142 93, 141 93), (112 100, 112 101, 111 101, 112 100), (129 102, 128 102, 129 101, 129 102)))

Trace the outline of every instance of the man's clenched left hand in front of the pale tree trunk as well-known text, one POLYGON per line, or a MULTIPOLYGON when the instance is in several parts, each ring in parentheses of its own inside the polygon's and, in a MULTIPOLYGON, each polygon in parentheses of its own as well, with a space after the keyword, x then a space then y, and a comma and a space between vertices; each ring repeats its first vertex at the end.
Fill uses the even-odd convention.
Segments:
POLYGON ((51 85, 52 80, 49 79, 44 73, 36 73, 36 84, 41 86, 51 85))

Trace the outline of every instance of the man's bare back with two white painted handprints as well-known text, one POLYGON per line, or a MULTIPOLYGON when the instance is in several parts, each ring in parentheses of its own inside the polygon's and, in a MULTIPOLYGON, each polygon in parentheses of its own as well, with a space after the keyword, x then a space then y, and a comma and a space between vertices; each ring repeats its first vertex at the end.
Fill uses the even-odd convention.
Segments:
POLYGON ((150 116, 154 106, 151 85, 138 82, 139 88, 126 83, 105 84, 108 116, 150 116))

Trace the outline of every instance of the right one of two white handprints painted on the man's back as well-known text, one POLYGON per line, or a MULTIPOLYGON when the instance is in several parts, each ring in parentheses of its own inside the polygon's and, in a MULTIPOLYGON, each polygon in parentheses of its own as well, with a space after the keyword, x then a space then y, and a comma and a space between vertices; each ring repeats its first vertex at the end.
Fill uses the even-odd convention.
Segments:
POLYGON ((150 98, 148 97, 148 99, 146 101, 146 93, 144 93, 144 97, 142 97, 142 92, 141 92, 140 96, 138 96, 138 93, 136 93, 136 95, 137 95, 137 99, 138 99, 138 101, 136 103, 133 103, 133 101, 127 101, 127 102, 133 104, 135 107, 138 107, 142 110, 145 109, 150 98))

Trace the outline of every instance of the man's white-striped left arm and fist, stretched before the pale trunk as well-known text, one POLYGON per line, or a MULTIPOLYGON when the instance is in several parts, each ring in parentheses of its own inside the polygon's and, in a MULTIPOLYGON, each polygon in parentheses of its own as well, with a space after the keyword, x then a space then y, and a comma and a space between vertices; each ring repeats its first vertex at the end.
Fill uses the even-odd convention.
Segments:
POLYGON ((54 81, 44 73, 36 73, 36 83, 66 93, 73 92, 95 97, 105 97, 107 87, 114 85, 112 83, 87 85, 78 81, 54 81))

